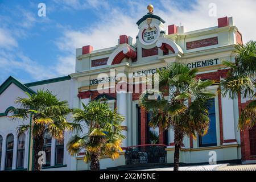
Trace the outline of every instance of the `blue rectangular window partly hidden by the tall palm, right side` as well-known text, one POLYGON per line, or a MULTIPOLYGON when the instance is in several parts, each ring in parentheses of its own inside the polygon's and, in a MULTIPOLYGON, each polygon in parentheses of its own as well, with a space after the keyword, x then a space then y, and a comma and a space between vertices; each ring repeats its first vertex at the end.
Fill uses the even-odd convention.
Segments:
POLYGON ((208 129, 208 133, 203 137, 199 136, 199 147, 217 146, 216 114, 215 114, 214 99, 209 100, 208 104, 209 104, 210 125, 208 129))

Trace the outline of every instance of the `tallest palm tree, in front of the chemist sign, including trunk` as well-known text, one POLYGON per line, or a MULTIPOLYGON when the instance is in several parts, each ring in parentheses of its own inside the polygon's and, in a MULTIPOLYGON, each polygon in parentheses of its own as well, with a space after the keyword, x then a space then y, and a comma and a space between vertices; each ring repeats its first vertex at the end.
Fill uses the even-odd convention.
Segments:
POLYGON ((177 171, 184 136, 196 138, 196 134, 205 135, 208 131, 208 100, 214 94, 207 92, 206 88, 213 81, 197 79, 197 69, 189 69, 181 63, 172 63, 157 73, 160 91, 147 90, 139 98, 139 105, 153 112, 151 126, 174 130, 174 171, 177 171), (163 97, 163 92, 169 92, 168 100, 163 97), (149 99, 150 95, 154 95, 155 100, 149 99))

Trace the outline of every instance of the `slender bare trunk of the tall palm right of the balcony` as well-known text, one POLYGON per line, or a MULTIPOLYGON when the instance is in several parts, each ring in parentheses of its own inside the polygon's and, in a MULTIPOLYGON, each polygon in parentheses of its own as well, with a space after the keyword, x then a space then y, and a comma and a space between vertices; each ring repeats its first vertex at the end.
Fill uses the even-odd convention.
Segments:
POLYGON ((179 171, 179 160, 180 160, 180 147, 183 142, 184 134, 180 129, 175 128, 174 130, 174 171, 179 171))

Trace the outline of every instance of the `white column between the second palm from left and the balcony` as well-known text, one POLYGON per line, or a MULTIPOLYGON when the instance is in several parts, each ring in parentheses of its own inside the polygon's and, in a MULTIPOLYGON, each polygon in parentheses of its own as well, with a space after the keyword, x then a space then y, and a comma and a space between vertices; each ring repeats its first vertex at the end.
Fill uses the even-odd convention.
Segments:
MULTIPOLYGON (((125 117, 125 121, 122 122, 122 126, 127 127, 127 93, 120 92, 117 97, 117 107, 118 113, 122 114, 125 117)), ((127 147, 127 131, 123 130, 123 135, 126 139, 123 139, 122 147, 127 147)))

